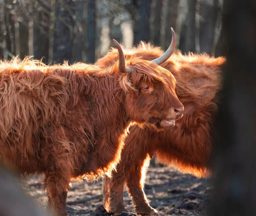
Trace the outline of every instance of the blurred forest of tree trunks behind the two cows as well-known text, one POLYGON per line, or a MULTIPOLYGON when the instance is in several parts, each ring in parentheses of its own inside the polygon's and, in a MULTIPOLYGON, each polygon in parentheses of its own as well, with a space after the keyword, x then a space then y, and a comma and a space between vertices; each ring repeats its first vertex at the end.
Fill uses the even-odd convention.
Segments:
POLYGON ((0 0, 0 58, 94 63, 113 40, 221 54, 223 0, 0 0))

